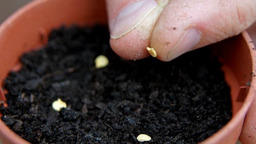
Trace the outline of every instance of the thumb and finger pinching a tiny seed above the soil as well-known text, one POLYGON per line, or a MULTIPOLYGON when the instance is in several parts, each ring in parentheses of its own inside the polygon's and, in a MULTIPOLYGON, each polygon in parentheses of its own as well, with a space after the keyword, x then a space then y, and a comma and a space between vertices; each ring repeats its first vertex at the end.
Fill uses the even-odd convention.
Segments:
POLYGON ((170 61, 238 35, 256 20, 255 0, 106 0, 110 44, 125 59, 170 61))

